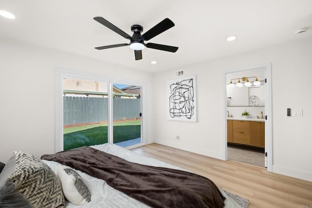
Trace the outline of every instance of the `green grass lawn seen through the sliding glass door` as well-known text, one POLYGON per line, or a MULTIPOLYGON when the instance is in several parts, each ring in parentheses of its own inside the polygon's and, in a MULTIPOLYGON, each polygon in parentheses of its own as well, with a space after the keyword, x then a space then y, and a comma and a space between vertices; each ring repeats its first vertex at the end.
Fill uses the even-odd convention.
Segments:
MULTIPOLYGON (((140 122, 140 120, 114 122, 114 143, 141 137, 140 122)), ((107 124, 64 128, 64 150, 107 143, 107 135, 107 124)))

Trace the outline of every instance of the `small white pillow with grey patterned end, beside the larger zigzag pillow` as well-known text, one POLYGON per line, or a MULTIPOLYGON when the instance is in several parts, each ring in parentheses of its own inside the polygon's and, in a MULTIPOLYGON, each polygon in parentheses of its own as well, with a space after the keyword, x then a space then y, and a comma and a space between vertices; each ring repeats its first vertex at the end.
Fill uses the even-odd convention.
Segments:
POLYGON ((90 202, 90 191, 75 170, 59 164, 57 175, 62 184, 64 196, 69 202, 74 205, 83 205, 90 202))

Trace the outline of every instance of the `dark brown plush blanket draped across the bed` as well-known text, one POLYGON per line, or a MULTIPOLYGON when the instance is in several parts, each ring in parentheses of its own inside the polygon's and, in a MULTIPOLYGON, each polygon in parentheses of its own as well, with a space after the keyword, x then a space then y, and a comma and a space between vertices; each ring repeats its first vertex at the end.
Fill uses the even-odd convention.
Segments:
POLYGON ((91 147, 41 156, 100 178, 155 208, 223 208, 225 197, 215 184, 195 173, 140 165, 91 147))

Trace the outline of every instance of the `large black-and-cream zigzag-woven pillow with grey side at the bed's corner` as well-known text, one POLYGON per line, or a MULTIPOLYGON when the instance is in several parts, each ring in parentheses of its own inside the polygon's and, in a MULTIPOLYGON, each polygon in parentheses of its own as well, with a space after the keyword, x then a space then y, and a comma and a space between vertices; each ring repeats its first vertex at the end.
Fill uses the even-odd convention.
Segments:
POLYGON ((14 151, 0 173, 0 207, 64 208, 56 174, 32 154, 14 151))

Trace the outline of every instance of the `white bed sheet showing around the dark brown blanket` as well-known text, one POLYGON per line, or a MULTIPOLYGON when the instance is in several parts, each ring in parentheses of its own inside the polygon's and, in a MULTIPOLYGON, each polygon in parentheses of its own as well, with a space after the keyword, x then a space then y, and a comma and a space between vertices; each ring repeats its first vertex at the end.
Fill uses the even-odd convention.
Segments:
MULTIPOLYGON (((125 148, 119 147, 114 144, 102 144, 91 146, 100 151, 113 154, 117 157, 123 158, 130 162, 135 162, 143 165, 172 168, 177 170, 181 169, 177 166, 162 162, 160 160, 140 155, 136 152, 129 151, 125 148)), ((58 163, 53 161, 43 160, 55 173, 58 170, 58 163)), ((91 202, 84 205, 74 205, 66 201, 66 208, 149 208, 149 206, 137 201, 134 198, 111 188, 107 183, 101 179, 94 178, 84 172, 77 170, 82 177, 86 186, 91 192, 91 202)), ((240 206, 230 197, 228 197, 223 190, 220 189, 222 194, 226 197, 224 201, 226 208, 240 208, 240 206)))

